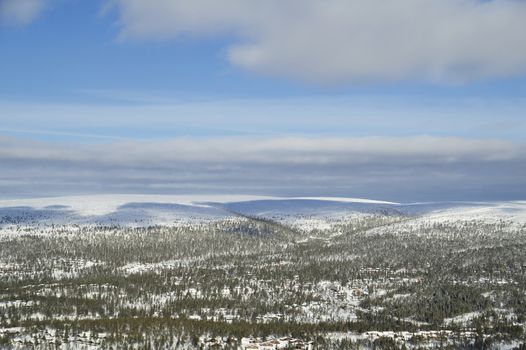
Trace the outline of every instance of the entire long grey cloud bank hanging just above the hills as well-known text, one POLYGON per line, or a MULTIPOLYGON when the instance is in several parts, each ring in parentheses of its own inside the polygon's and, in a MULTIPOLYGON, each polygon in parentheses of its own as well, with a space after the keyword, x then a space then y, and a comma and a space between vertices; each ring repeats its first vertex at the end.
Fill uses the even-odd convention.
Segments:
POLYGON ((0 138, 4 197, 80 193, 526 197, 526 152, 502 140, 218 138, 108 144, 0 138))

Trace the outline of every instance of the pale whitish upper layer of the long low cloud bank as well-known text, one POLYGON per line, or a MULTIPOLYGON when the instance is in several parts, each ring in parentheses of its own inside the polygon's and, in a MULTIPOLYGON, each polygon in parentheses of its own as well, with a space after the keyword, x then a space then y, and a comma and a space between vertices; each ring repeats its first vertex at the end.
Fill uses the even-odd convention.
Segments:
POLYGON ((166 141, 122 141, 74 146, 0 138, 0 160, 61 161, 117 167, 171 169, 180 164, 444 164, 524 158, 524 147, 503 140, 454 137, 223 137, 166 141))

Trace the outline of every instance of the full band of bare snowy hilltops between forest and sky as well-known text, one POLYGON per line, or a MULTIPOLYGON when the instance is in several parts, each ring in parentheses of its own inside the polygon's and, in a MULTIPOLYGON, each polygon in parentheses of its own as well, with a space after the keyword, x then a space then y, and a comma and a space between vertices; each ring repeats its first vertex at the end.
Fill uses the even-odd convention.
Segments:
POLYGON ((339 198, 236 195, 90 195, 0 200, 0 225, 178 225, 237 216, 268 218, 304 230, 329 229, 370 215, 426 221, 506 220, 526 223, 526 201, 401 204, 339 198))

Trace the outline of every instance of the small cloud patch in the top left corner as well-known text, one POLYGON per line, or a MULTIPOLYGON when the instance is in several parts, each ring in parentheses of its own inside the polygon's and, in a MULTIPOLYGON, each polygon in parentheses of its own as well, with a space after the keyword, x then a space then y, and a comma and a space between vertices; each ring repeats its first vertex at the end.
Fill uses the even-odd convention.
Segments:
POLYGON ((0 23, 25 25, 44 9, 44 0, 0 0, 0 23))

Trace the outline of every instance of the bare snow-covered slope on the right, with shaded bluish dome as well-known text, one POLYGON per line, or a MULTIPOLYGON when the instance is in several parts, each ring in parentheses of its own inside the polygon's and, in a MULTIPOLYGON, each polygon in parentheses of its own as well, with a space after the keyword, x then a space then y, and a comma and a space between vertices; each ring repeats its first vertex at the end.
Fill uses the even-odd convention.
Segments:
MULTIPOLYGON (((390 215, 411 222, 508 221, 526 224, 526 201, 393 203, 342 198, 265 199, 225 203, 228 210, 272 219, 302 231, 330 230, 367 216, 390 215)), ((407 221, 405 220, 404 221, 407 221)))

